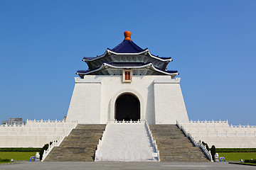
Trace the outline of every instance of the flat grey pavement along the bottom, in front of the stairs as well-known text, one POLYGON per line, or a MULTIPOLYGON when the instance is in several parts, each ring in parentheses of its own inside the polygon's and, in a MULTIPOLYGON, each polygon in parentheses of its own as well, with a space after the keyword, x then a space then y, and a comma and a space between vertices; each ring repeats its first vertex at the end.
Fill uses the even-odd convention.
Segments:
POLYGON ((22 162, 20 164, 0 164, 1 170, 116 170, 116 169, 218 169, 218 170, 240 170, 255 169, 255 166, 244 166, 236 164, 212 163, 212 162, 22 162))

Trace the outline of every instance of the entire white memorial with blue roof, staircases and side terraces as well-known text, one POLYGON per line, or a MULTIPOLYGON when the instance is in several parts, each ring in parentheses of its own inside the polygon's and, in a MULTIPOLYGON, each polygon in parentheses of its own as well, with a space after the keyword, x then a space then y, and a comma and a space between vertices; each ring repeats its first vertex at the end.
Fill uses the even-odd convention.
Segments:
MULTIPOLYGON (((113 35, 116 36, 116 35, 113 35)), ((188 120, 178 71, 124 32, 119 45, 83 57, 64 120, 0 125, 0 147, 43 147, 44 162, 210 162, 203 143, 256 147, 256 126, 188 120)))

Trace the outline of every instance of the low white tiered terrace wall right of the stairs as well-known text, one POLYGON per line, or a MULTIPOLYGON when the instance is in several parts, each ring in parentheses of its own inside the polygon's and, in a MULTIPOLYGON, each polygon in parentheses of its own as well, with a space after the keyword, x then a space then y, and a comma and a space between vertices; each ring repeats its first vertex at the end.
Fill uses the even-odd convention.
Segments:
POLYGON ((206 142, 209 147, 256 147, 256 126, 228 125, 228 121, 190 121, 181 125, 195 140, 206 142))

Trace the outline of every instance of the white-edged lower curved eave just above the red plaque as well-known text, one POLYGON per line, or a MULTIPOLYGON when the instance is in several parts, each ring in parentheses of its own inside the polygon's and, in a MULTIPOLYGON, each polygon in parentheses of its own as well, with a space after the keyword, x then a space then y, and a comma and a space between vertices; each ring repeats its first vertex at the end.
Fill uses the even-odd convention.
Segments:
POLYGON ((103 63, 102 66, 98 69, 94 69, 92 71, 89 71, 89 72, 77 72, 77 74, 81 74, 81 75, 87 75, 87 74, 92 74, 94 72, 99 72, 101 70, 104 70, 104 69, 108 69, 108 68, 112 68, 112 69, 144 69, 144 68, 147 68, 147 69, 152 69, 156 72, 160 72, 162 74, 166 74, 166 75, 170 75, 170 76, 176 76, 178 75, 178 72, 174 72, 174 73, 169 73, 169 72, 164 72, 162 71, 161 69, 156 69, 156 67, 154 67, 153 64, 149 63, 149 64, 145 64, 143 66, 137 66, 137 67, 119 67, 119 66, 113 66, 111 64, 107 64, 107 63, 103 63))

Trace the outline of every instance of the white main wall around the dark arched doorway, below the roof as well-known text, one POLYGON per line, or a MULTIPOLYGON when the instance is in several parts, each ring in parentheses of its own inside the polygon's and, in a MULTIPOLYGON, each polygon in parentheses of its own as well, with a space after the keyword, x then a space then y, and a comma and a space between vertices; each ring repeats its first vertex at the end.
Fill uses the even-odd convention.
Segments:
POLYGON ((139 99, 141 119, 149 124, 188 121, 179 81, 170 76, 133 76, 132 83, 123 83, 122 76, 75 77, 67 120, 105 124, 114 120, 118 96, 130 93, 139 99))

